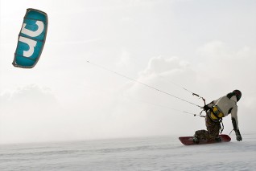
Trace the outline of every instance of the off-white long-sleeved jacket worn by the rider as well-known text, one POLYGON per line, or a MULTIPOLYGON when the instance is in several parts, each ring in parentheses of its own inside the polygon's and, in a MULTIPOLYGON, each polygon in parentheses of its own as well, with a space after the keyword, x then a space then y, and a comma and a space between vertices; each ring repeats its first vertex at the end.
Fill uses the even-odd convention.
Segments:
POLYGON ((222 96, 218 100, 214 100, 211 104, 208 104, 209 108, 217 105, 217 107, 221 110, 225 116, 228 116, 231 113, 231 117, 236 120, 237 129, 238 128, 238 120, 237 120, 237 97, 232 96, 230 99, 227 96, 222 96))

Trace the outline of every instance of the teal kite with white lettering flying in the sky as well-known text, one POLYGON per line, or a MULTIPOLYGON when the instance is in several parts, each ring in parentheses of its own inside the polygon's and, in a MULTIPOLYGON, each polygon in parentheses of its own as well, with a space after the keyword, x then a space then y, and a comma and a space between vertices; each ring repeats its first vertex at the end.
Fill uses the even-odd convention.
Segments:
POLYGON ((27 9, 14 54, 14 67, 32 68, 43 51, 48 18, 41 10, 27 9))

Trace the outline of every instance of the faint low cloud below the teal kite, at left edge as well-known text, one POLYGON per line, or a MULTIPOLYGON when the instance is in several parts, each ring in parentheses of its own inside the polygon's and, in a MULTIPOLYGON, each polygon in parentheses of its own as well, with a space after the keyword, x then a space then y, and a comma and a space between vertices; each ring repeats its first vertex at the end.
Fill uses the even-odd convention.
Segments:
POLYGON ((4 92, 1 100, 1 143, 47 140, 55 132, 58 102, 49 88, 35 84, 4 92))

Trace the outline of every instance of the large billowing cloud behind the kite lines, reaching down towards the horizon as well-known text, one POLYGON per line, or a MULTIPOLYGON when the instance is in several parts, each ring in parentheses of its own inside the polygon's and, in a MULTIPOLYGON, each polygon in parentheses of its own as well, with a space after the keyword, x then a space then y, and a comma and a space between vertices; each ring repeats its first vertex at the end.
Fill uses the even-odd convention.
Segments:
POLYGON ((155 136, 175 134, 176 129, 180 128, 180 132, 190 132, 192 135, 189 127, 204 123, 200 124, 192 115, 184 112, 199 113, 200 109, 157 90, 202 103, 192 93, 184 92, 175 84, 188 85, 195 78, 195 71, 192 71, 188 61, 178 57, 151 58, 147 67, 140 72, 137 82, 129 83, 123 90, 119 100, 122 103, 114 112, 114 117, 122 118, 118 121, 126 125, 126 128, 122 128, 123 132, 134 136, 155 136))

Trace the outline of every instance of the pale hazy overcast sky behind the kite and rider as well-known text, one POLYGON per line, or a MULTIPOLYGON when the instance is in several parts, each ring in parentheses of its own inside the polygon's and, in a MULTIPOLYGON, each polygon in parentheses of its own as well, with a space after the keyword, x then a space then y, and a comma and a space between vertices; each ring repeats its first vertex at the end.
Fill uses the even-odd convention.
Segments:
MULTIPOLYGON (((241 90, 240 132, 256 131, 253 0, 0 4, 0 144, 192 136, 205 128, 204 119, 184 112, 200 108, 173 96, 204 104, 184 88, 208 103, 241 90), (11 64, 27 8, 48 16, 43 53, 32 69, 11 64)), ((228 134, 230 116, 224 124, 228 134)))

